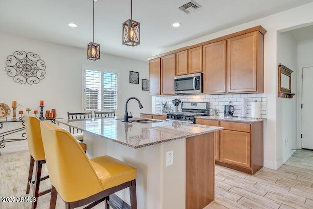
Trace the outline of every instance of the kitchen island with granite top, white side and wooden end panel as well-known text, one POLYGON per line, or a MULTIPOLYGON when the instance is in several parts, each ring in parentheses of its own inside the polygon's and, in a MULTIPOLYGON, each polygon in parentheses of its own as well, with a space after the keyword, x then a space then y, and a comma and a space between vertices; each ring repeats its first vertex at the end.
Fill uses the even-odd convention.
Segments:
MULTIPOLYGON (((202 209, 214 200, 214 131, 222 127, 114 118, 58 122, 84 131, 89 157, 110 155, 137 168, 138 209, 202 209)), ((117 195, 129 203, 129 190, 117 195)))

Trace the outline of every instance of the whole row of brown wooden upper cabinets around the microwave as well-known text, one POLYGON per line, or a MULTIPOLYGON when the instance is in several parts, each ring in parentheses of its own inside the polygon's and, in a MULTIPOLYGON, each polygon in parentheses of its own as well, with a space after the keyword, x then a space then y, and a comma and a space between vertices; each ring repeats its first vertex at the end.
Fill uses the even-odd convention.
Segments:
MULTIPOLYGON (((203 93, 263 93, 265 33, 256 26, 158 56, 161 87, 150 81, 150 95, 174 94, 175 75, 199 72, 203 72, 203 93)), ((157 62, 151 59, 150 67, 155 67, 153 61, 157 62)))

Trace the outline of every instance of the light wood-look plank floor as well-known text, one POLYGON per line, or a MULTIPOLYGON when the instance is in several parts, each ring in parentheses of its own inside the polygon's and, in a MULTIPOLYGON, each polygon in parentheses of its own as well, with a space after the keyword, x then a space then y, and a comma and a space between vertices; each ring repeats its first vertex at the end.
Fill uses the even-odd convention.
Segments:
MULTIPOLYGON (((28 151, 2 154, 0 197, 31 197, 25 194, 28 166, 28 151)), ((262 168, 253 176, 218 165, 215 173, 215 201, 205 209, 313 209, 313 151, 298 150, 278 170, 262 168)), ((41 190, 49 187, 49 180, 41 182, 41 190)), ((39 197, 37 208, 48 209, 49 201, 49 194, 39 197)), ((0 202, 0 209, 30 208, 30 202, 0 202)), ((60 197, 57 208, 65 208, 60 197)), ((100 208, 104 204, 94 207, 100 208)))

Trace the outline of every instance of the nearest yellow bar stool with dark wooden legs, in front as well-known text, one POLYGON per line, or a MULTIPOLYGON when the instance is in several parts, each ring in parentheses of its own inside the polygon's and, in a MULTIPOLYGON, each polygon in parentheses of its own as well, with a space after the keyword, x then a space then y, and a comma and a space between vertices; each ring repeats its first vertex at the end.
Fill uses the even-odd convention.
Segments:
POLYGON ((103 201, 109 209, 109 195, 128 187, 131 208, 137 209, 136 168, 110 156, 89 159, 67 130, 46 121, 40 126, 52 183, 50 209, 55 208, 57 194, 66 209, 86 204, 91 208, 103 201))

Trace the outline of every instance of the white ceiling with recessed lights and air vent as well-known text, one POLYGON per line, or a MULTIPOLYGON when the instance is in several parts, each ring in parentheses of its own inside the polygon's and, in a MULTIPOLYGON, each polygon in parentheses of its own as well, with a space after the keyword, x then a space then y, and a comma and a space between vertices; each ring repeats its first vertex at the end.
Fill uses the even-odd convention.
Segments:
MULTIPOLYGON (((86 48, 92 41, 92 0, 0 0, 0 31, 86 48), (67 23, 78 24, 77 28, 67 23)), ((95 42, 101 52, 145 61, 151 52, 313 0, 195 0, 197 11, 185 14, 186 0, 133 0, 133 20, 141 23, 141 44, 122 45, 122 23, 130 18, 130 0, 95 3, 95 42), (182 26, 173 28, 172 23, 182 26)))

